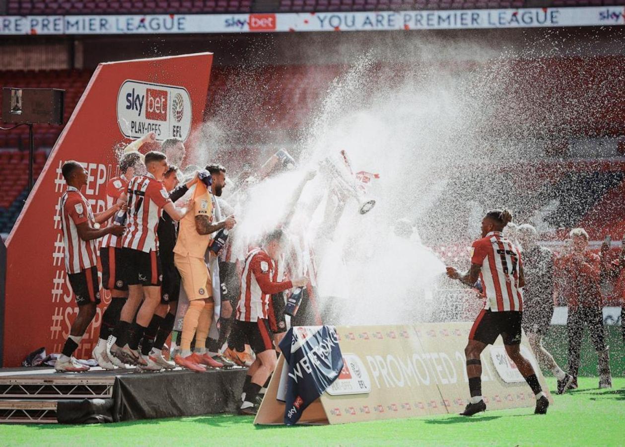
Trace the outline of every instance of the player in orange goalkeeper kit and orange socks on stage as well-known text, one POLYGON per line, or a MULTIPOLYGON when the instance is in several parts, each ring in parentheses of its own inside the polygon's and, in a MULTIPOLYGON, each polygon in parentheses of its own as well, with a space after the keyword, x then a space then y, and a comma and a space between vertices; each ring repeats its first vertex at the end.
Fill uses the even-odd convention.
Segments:
POLYGON ((193 191, 193 213, 187 214, 180 222, 178 241, 174 248, 174 263, 189 299, 189 308, 183 319, 181 353, 174 357, 174 362, 197 372, 206 371, 202 365, 212 368, 223 366, 206 354, 206 338, 212 323, 214 301, 211 275, 204 263, 204 255, 211 241, 211 233, 222 228, 232 229, 236 224, 234 216, 213 223, 214 208, 207 185, 211 186, 213 193, 219 192, 221 195, 221 189, 226 185, 225 172, 226 169, 220 168, 214 174, 208 171, 202 173, 202 181, 196 183, 193 191), (196 334, 196 351, 191 353, 193 334, 196 334))

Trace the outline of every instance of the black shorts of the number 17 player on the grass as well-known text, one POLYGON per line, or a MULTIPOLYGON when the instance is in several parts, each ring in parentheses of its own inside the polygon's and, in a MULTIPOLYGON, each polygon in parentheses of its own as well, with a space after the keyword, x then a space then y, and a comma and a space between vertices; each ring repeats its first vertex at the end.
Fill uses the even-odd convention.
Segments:
POLYGON ((492 344, 501 335, 504 344, 519 344, 521 319, 522 312, 492 312, 490 309, 482 309, 469 332, 469 340, 492 344))

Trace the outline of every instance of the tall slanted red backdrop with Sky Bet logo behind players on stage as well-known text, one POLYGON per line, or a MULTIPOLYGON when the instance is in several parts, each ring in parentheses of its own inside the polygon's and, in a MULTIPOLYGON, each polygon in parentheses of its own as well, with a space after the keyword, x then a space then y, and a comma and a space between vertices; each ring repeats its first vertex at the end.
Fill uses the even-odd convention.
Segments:
MULTIPOLYGON (((98 66, 7 239, 4 366, 19 365, 41 346, 60 352, 78 313, 64 266, 63 163, 83 163, 89 173, 83 194, 94 212, 103 211, 106 182, 118 171, 115 148, 152 130, 161 141, 192 134, 204 115, 211 64, 211 53, 199 53, 98 66)), ((77 357, 90 356, 98 341, 110 301, 103 292, 77 357)))

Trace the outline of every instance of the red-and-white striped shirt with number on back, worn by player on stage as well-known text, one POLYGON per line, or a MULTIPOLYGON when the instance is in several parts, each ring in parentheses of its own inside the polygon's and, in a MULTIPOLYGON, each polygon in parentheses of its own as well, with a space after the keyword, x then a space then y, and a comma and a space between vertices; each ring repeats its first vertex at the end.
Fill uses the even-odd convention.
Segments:
POLYGON ((170 203, 163 184, 150 173, 136 176, 128 184, 128 219, 123 247, 149 253, 158 251, 158 221, 163 207, 170 203))

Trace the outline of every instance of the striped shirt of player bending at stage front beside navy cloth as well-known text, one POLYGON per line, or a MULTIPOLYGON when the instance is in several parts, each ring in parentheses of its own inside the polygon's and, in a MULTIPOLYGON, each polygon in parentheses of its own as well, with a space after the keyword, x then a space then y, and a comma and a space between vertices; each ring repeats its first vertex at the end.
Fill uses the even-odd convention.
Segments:
POLYGON ((237 319, 254 323, 267 318, 269 297, 293 287, 291 281, 276 282, 276 273, 276 263, 263 249, 254 248, 247 253, 236 306, 237 319))

